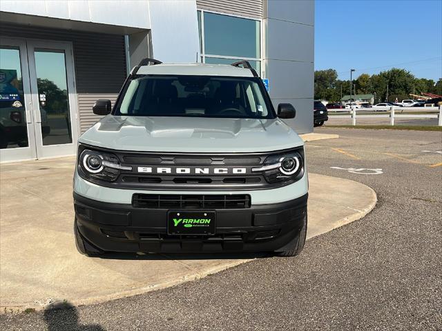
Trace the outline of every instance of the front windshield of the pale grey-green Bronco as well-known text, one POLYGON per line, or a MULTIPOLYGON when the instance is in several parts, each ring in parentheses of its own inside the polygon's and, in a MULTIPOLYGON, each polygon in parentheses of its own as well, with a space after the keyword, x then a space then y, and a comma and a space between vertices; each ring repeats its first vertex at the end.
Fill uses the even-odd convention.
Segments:
POLYGON ((273 119, 259 78, 146 76, 133 79, 115 115, 273 119))

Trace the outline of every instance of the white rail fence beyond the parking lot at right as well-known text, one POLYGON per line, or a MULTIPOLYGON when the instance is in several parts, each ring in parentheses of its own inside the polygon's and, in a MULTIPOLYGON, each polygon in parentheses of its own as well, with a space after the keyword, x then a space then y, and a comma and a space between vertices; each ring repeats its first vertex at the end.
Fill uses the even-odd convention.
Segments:
POLYGON ((394 119, 439 119, 438 126, 442 126, 442 106, 439 107, 372 107, 352 109, 329 109, 329 112, 349 112, 346 115, 331 115, 329 119, 352 119, 352 125, 356 126, 356 119, 382 119, 390 118, 390 125, 394 126, 394 119), (387 114, 358 114, 358 112, 378 112, 387 114), (432 112, 434 114, 416 114, 416 112, 432 112))

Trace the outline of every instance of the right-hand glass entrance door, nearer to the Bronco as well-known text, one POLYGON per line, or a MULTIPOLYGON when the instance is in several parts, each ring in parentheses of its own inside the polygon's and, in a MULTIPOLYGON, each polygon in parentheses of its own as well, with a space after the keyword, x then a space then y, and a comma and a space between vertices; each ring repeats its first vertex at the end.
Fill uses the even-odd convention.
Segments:
POLYGON ((77 102, 70 43, 28 41, 37 157, 75 154, 77 102))

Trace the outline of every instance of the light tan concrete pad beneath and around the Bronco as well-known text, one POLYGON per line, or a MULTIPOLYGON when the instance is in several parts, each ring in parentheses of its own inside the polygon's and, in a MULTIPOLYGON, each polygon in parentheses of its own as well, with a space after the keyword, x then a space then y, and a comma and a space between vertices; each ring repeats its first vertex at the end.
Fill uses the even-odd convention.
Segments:
MULTIPOLYGON (((1 165, 1 311, 117 299, 176 285, 259 255, 79 254, 73 237, 73 157, 1 165)), ((361 183, 309 175, 307 238, 363 217, 376 194, 361 183)), ((308 245, 308 243, 307 243, 308 245)), ((296 261, 296 260, 295 260, 296 261)))

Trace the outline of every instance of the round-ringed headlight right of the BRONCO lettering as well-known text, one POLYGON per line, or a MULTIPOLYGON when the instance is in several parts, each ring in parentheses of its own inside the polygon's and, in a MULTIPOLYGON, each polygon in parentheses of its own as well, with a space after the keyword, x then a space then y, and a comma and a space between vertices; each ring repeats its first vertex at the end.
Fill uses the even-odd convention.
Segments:
POLYGON ((297 181, 304 174, 304 162, 300 152, 271 155, 265 159, 262 167, 253 168, 252 171, 263 172, 269 183, 297 181))

